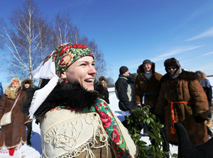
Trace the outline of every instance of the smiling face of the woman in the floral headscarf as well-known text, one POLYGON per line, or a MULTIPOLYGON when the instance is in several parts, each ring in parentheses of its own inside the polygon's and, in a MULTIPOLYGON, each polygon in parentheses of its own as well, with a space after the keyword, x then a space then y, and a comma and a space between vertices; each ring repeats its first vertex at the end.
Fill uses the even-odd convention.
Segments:
POLYGON ((69 83, 78 81, 86 90, 94 90, 96 75, 95 61, 91 56, 85 56, 75 61, 61 74, 62 79, 69 83))

